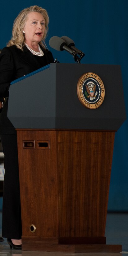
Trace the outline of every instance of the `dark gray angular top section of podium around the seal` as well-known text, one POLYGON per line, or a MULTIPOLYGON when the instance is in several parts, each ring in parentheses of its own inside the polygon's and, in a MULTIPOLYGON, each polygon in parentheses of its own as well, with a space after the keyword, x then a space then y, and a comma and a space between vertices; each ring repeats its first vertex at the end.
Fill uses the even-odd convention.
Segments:
POLYGON ((8 118, 16 129, 118 130, 126 119, 119 65, 51 63, 10 86, 8 118), (77 96, 77 82, 93 72, 102 79, 105 98, 88 109, 77 96))

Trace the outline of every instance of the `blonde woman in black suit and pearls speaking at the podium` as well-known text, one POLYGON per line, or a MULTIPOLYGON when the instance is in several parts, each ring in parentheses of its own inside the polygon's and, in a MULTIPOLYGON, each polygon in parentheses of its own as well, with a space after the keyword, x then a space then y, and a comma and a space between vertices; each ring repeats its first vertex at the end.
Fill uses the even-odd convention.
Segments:
MULTIPOLYGON (((18 170, 17 136, 7 118, 10 82, 51 62, 53 55, 45 47, 49 17, 45 9, 31 6, 16 17, 12 38, 0 54, 0 97, 6 98, 2 107, 0 135, 4 153, 4 185, 2 237, 10 248, 21 249, 21 204, 18 170), (4 105, 4 106, 3 106, 4 105)), ((22 101, 24 105, 24 99, 22 101)), ((33 99, 33 107, 34 99, 33 99)))

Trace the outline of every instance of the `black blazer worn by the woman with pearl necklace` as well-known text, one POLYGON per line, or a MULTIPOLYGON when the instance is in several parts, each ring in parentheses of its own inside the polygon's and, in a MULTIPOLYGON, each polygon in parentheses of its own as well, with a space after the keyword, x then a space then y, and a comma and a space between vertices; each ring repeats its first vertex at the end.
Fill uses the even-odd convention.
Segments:
MULTIPOLYGON (((42 66, 54 62, 50 51, 42 48, 44 56, 33 55, 25 46, 23 52, 15 45, 3 48, 0 54, 0 97, 8 97, 10 82, 29 74, 42 66)), ((23 99, 24 103, 24 99, 23 99)), ((16 134, 14 126, 7 118, 8 98, 2 108, 0 119, 1 134, 16 134)))

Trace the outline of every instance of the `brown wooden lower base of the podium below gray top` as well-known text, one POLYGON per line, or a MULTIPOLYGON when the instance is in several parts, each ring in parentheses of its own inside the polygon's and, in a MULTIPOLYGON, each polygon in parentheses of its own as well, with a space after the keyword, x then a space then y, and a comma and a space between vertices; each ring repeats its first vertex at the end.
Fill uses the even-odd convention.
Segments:
POLYGON ((114 136, 17 130, 23 250, 121 251, 104 237, 114 136))

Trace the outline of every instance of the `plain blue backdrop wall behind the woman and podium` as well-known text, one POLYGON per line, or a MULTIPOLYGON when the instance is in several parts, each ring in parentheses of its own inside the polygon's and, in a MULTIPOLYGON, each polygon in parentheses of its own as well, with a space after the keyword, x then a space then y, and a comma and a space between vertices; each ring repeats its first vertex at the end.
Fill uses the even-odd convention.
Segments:
MULTIPOLYGON (((128 1, 127 0, 7 0, 1 1, 0 48, 11 37, 13 21, 18 13, 31 5, 39 5, 50 17, 46 44, 60 62, 74 63, 67 52, 49 47, 53 36, 68 36, 85 52, 81 63, 119 64, 128 112, 128 1)), ((109 75, 109 74, 108 74, 109 75)), ((114 94, 113 94, 114 98, 114 94)), ((120 102, 119 102, 120 107, 120 102)), ((127 113, 128 116, 128 113, 127 113)), ((128 121, 117 131, 114 145, 109 193, 109 211, 128 211, 128 121)))

